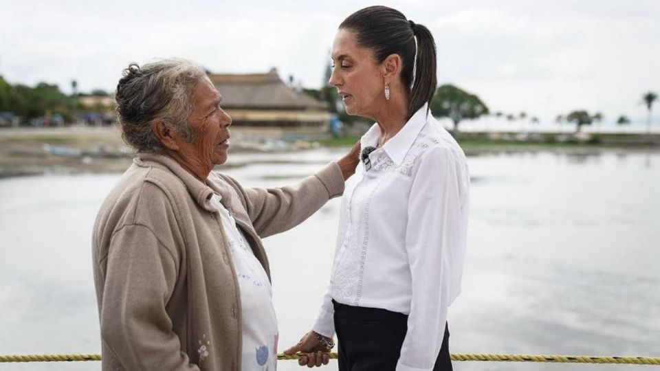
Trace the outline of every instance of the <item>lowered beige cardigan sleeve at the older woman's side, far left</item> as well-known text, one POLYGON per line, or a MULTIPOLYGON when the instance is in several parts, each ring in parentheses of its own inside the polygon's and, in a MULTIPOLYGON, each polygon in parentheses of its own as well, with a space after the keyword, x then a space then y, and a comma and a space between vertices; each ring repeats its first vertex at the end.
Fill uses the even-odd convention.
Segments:
POLYGON ((113 234, 100 311, 101 339, 126 370, 197 370, 166 313, 177 261, 144 225, 113 234))

